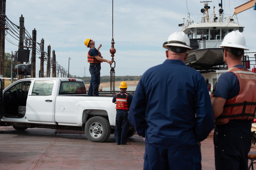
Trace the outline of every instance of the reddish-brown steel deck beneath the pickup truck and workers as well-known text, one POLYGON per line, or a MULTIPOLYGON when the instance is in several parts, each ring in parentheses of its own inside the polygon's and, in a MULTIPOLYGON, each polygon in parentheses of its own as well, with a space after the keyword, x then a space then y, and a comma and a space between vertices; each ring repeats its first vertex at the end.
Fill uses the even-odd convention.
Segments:
MULTIPOLYGON (((106 142, 93 143, 85 134, 57 133, 54 129, 17 131, 0 126, 0 132, 1 170, 143 169, 145 143, 138 135, 128 138, 127 145, 116 145, 114 135, 106 142)), ((215 169, 212 133, 201 142, 201 152, 202 169, 215 169)))

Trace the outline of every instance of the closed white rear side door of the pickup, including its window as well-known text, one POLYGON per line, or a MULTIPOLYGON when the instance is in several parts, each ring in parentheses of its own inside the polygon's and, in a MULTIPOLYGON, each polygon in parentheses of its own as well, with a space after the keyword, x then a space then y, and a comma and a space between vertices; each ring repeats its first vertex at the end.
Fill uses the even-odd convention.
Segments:
POLYGON ((35 80, 29 91, 26 118, 33 122, 52 122, 56 80, 35 80))

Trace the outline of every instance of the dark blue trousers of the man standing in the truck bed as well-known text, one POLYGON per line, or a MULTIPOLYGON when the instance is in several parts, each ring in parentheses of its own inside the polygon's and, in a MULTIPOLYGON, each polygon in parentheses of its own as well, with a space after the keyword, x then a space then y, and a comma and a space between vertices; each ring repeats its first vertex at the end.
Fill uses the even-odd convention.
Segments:
POLYGON ((100 63, 90 63, 89 71, 91 74, 91 81, 88 96, 99 96, 100 69, 100 63))

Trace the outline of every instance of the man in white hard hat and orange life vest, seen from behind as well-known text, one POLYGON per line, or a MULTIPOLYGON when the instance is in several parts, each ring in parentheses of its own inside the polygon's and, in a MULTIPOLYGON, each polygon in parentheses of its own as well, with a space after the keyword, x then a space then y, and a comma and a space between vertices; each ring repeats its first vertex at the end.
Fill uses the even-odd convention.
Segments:
POLYGON ((251 126, 255 116, 256 74, 242 64, 245 45, 242 33, 228 33, 220 47, 228 70, 213 88, 216 169, 248 169, 251 126))

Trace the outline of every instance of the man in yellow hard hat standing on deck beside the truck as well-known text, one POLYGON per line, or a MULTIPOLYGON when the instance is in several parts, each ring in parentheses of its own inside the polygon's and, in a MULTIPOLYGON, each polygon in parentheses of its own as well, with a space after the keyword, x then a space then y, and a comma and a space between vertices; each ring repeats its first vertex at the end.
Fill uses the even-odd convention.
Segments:
POLYGON ((116 93, 112 102, 116 102, 116 127, 115 140, 117 145, 126 145, 126 138, 129 131, 128 113, 132 101, 132 95, 126 93, 126 82, 120 83, 120 92, 116 93))

